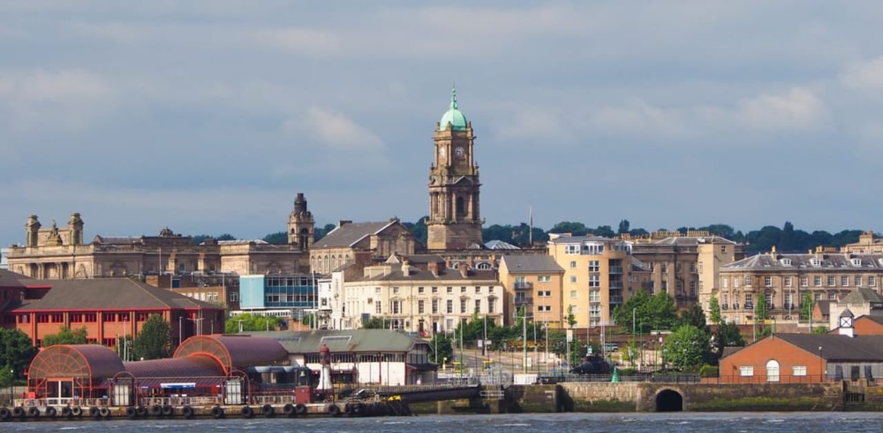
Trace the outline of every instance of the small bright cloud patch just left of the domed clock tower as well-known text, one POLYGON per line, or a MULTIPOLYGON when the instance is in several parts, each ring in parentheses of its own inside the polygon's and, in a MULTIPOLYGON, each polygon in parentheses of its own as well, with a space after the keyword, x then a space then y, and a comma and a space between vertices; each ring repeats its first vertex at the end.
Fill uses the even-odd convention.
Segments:
POLYGON ((386 147, 380 137, 349 116, 318 107, 286 119, 282 130, 290 137, 312 137, 336 151, 368 153, 386 147))

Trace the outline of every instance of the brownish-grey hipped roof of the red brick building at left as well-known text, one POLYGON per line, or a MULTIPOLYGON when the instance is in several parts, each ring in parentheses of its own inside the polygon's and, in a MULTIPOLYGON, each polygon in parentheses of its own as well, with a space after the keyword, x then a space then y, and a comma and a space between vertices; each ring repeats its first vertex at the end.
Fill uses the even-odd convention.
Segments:
POLYGON ((220 309, 170 290, 127 278, 93 280, 45 280, 52 288, 41 299, 19 311, 33 310, 125 310, 125 309, 220 309))

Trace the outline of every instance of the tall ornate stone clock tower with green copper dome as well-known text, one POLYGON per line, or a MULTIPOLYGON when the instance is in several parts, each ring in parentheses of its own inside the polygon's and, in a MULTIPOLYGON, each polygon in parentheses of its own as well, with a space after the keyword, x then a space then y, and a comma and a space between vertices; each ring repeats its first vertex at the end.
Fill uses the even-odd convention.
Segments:
POLYGON ((435 158, 429 168, 429 250, 465 250, 481 245, 479 165, 472 158, 472 123, 457 108, 457 90, 450 108, 435 128, 435 158))

